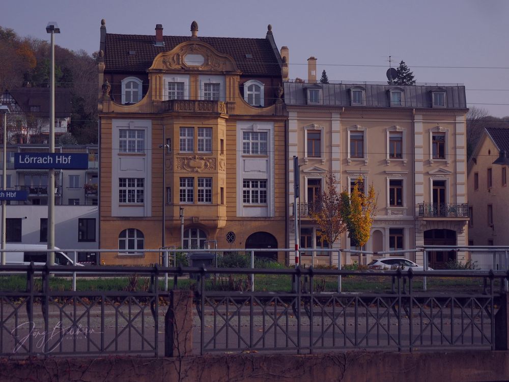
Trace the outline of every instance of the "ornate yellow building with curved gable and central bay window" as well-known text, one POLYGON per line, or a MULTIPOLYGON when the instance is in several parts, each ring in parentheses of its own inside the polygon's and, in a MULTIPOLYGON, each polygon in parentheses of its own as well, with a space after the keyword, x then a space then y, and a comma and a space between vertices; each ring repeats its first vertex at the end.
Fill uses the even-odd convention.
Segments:
POLYGON ((102 21, 99 245, 119 250, 107 264, 286 247, 287 71, 270 25, 243 39, 199 37, 196 22, 190 36, 108 34, 102 21))

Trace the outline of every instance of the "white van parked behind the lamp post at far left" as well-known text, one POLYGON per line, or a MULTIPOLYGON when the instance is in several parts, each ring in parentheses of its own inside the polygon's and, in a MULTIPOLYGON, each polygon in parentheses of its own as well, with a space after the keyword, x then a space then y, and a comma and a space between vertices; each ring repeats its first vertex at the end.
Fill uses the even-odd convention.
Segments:
MULTIPOLYGON (((5 263, 6 265, 29 265, 32 261, 34 265, 44 265, 47 260, 48 247, 44 244, 5 244, 5 263), (11 251, 9 251, 11 250, 11 251), (14 252, 15 251, 15 252, 14 252)), ((55 247, 55 250, 60 248, 55 247)), ((73 261, 65 252, 55 251, 55 265, 73 265, 73 261)), ((77 266, 83 264, 77 263, 77 266)))

